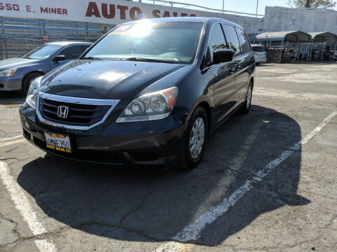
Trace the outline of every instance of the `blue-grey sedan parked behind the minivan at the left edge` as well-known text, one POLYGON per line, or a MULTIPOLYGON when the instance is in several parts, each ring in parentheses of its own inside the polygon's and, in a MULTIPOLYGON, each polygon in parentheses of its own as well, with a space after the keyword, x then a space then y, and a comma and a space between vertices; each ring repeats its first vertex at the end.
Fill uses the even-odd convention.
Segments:
POLYGON ((51 42, 20 57, 0 60, 0 91, 22 90, 27 93, 34 78, 77 59, 91 44, 79 41, 51 42))

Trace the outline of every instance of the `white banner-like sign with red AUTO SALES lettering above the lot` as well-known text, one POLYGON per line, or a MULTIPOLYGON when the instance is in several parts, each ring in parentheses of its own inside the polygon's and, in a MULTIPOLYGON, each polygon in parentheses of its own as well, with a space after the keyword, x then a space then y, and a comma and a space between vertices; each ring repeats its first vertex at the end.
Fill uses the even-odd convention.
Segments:
POLYGON ((217 16, 219 14, 123 0, 0 0, 0 15, 14 18, 119 24, 142 18, 217 16))

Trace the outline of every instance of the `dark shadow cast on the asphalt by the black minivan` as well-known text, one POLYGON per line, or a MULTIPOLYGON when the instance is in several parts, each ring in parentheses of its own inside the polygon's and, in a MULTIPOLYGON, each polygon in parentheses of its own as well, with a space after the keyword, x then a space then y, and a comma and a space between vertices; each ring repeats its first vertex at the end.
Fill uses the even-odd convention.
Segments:
MULTIPOLYGON (((124 241, 169 241, 300 139, 295 120, 252 106, 211 135, 203 161, 191 172, 84 165, 46 155, 27 163, 18 183, 49 217, 77 230, 124 241)), ((294 152, 190 243, 216 246, 263 213, 308 204, 296 195, 300 159, 301 150, 294 152)))

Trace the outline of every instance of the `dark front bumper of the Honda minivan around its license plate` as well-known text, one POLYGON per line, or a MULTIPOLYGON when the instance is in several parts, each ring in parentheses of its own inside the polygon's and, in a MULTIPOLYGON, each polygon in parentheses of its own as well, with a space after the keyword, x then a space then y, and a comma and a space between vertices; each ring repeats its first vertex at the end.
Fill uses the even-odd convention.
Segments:
POLYGON ((135 123, 114 123, 114 119, 107 118, 105 123, 90 130, 70 130, 41 123, 34 109, 26 103, 20 108, 20 120, 24 137, 47 153, 112 165, 163 165, 172 162, 187 125, 171 115, 162 120, 135 123), (69 135, 72 153, 46 148, 46 131, 69 135))

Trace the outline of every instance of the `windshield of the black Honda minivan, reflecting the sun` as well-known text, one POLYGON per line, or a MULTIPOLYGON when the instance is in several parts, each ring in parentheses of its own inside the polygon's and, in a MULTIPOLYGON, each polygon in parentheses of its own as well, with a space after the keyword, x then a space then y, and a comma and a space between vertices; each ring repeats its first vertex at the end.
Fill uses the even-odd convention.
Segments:
POLYGON ((121 25, 98 42, 85 57, 153 59, 191 64, 197 52, 202 23, 139 22, 121 25))

